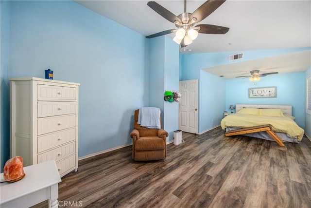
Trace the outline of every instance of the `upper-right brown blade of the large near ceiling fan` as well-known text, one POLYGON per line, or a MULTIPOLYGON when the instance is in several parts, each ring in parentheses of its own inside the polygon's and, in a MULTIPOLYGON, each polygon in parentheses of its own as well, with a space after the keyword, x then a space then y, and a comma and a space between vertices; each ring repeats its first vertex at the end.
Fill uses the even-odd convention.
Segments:
POLYGON ((190 20, 192 18, 196 18, 196 22, 202 21, 208 15, 213 13, 218 7, 220 7, 224 2, 225 0, 207 0, 192 13, 190 20))

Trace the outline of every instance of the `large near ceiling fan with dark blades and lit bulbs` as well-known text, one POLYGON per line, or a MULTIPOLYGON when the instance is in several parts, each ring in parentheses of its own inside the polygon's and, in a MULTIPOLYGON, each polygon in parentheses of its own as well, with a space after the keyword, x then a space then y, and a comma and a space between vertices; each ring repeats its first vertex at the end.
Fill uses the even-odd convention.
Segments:
POLYGON ((175 37, 173 40, 180 44, 181 47, 186 47, 192 43, 192 40, 197 38, 198 33, 204 34, 225 34, 229 31, 229 28, 212 25, 212 24, 198 24, 196 23, 207 18, 211 13, 213 13, 218 7, 220 7, 225 0, 207 0, 199 8, 197 8, 193 13, 186 12, 186 0, 184 1, 184 13, 180 14, 178 17, 175 16, 172 12, 156 3, 155 1, 149 1, 147 5, 155 10, 163 18, 173 22, 177 29, 170 29, 155 33, 153 35, 147 36, 146 38, 155 38, 158 36, 167 35, 174 33, 175 37))

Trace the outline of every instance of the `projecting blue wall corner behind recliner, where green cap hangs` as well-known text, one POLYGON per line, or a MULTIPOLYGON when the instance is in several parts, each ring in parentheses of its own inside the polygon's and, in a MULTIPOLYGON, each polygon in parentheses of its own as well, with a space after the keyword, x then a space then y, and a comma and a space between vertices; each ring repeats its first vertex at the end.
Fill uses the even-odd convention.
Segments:
POLYGON ((150 39, 149 105, 161 109, 163 128, 173 140, 178 129, 178 103, 164 101, 165 90, 179 88, 179 46, 166 36, 150 39))

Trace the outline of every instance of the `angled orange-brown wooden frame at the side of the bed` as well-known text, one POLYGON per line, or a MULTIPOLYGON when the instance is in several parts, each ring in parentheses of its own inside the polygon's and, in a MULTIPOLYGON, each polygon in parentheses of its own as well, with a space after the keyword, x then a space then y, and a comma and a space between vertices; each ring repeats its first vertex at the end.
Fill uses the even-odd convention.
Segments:
POLYGON ((255 133, 255 132, 267 132, 274 140, 276 140, 276 143, 279 146, 281 147, 284 146, 282 139, 278 137, 276 133, 271 130, 271 125, 269 124, 231 130, 231 131, 225 132, 225 136, 234 136, 234 135, 240 135, 240 134, 245 134, 245 133, 255 133))

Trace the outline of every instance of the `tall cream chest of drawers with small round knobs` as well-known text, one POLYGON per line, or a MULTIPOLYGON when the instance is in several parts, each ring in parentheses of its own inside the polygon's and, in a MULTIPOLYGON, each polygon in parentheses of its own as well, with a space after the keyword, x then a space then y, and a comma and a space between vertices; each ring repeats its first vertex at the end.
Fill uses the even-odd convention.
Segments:
POLYGON ((78 83, 10 78, 11 157, 24 167, 55 160, 60 176, 78 170, 78 83))

